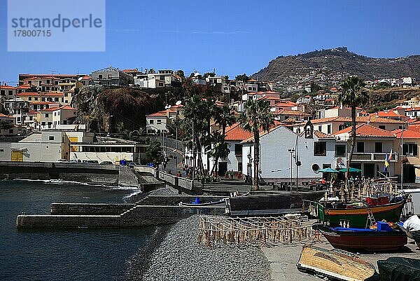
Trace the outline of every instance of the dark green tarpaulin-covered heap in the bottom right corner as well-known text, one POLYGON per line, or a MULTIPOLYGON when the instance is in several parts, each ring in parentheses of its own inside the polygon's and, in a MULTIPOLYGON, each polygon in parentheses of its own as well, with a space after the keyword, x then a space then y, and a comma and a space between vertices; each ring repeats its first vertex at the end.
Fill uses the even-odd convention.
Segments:
POLYGON ((388 258, 378 268, 381 281, 420 281, 420 259, 388 258))

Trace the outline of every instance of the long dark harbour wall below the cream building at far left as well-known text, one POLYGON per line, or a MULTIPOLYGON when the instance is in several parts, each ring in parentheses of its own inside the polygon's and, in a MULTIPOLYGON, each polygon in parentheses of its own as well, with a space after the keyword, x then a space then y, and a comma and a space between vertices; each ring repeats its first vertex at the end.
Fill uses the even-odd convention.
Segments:
POLYGON ((132 170, 120 165, 0 161, 0 174, 5 179, 62 179, 112 186, 141 185, 141 179, 132 170))

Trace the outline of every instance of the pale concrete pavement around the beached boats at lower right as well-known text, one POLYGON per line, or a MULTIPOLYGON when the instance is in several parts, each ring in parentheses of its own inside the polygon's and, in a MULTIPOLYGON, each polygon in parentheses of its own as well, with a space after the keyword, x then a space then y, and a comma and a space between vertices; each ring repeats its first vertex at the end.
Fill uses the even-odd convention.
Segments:
MULTIPOLYGON (((414 241, 408 239, 408 244, 398 252, 382 252, 377 254, 359 254, 361 259, 372 263, 377 268, 377 261, 388 259, 391 256, 407 257, 412 259, 420 259, 420 249, 416 247, 414 241)), ((316 247, 324 249, 333 249, 330 243, 325 238, 321 238, 321 242, 315 244, 316 247)), ((311 281, 322 280, 314 275, 301 273, 296 268, 296 263, 299 260, 303 245, 293 246, 275 246, 262 247, 262 252, 267 257, 270 263, 270 274, 272 281, 287 280, 287 281, 311 281)))

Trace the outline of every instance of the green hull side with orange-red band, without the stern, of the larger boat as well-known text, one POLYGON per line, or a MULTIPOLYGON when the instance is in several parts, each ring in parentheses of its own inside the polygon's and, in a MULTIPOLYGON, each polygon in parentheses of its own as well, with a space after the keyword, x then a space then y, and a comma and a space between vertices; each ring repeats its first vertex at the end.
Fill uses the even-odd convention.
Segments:
POLYGON ((372 212, 376 221, 399 221, 404 205, 405 200, 399 203, 374 207, 355 207, 353 209, 324 208, 324 221, 328 221, 330 226, 340 226, 340 222, 348 221, 349 227, 365 228, 368 210, 372 212))

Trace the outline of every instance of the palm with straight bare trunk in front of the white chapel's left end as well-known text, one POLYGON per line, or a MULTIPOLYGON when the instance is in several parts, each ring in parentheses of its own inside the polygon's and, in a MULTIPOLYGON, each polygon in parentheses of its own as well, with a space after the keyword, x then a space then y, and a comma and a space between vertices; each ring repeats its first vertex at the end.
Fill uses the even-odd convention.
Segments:
POLYGON ((253 156, 253 190, 259 189, 260 168, 260 130, 268 132, 269 127, 274 125, 274 116, 270 111, 269 102, 265 100, 248 100, 244 111, 239 118, 241 128, 253 133, 254 156, 253 156))

